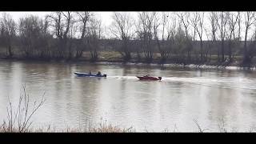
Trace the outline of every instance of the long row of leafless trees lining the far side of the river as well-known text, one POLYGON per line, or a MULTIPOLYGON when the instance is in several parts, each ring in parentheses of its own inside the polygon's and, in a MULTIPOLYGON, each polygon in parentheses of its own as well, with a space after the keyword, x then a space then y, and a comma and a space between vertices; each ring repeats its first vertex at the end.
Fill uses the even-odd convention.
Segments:
POLYGON ((114 12, 112 24, 102 25, 97 13, 53 12, 45 18, 34 15, 15 22, 9 14, 0 20, 0 46, 6 58, 82 58, 90 52, 114 50, 124 61, 144 58, 160 62, 206 63, 213 59, 250 66, 255 55, 255 12, 114 12), (104 27, 104 28, 103 28, 104 27))

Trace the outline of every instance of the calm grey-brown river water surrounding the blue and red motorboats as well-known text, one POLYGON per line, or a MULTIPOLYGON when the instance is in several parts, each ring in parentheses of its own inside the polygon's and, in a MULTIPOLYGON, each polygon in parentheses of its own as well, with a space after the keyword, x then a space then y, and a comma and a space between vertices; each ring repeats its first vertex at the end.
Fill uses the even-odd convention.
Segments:
MULTIPOLYGON (((230 129, 254 128, 256 73, 242 70, 162 69, 90 63, 0 61, 0 115, 8 97, 17 102, 22 86, 32 100, 46 92, 34 126, 78 127, 106 120, 137 131, 164 129, 218 131, 224 118, 230 129), (73 73, 101 71, 107 78, 78 78, 73 73), (162 82, 138 81, 136 75, 162 76, 162 82)), ((32 101, 31 100, 31 101, 32 101)))

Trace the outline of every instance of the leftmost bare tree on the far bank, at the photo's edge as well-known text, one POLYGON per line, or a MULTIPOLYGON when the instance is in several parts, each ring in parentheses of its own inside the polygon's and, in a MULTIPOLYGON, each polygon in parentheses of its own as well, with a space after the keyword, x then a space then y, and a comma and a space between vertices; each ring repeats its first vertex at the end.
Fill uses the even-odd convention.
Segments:
POLYGON ((14 22, 14 19, 11 18, 10 14, 2 14, 1 27, 3 43, 6 46, 6 54, 7 57, 11 58, 14 55, 12 51, 12 42, 13 38, 16 36, 16 23, 14 22))

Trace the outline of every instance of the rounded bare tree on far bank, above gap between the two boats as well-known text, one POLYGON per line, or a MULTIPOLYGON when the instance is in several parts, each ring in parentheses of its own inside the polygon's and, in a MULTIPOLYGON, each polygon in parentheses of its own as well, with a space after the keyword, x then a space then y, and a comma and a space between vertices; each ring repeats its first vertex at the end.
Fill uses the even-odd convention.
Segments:
POLYGON ((131 58, 131 50, 130 50, 130 39, 134 35, 134 21, 131 18, 130 14, 127 13, 117 13, 115 12, 112 16, 114 22, 110 27, 112 34, 114 34, 115 38, 118 38, 122 41, 120 46, 120 54, 124 57, 125 61, 131 58))

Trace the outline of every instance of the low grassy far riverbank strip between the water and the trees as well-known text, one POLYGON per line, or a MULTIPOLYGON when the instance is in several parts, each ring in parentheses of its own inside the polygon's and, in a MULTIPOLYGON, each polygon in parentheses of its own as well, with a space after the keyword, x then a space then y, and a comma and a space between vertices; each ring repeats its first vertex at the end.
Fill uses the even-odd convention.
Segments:
POLYGON ((190 69, 227 69, 227 70, 256 70, 256 65, 242 66, 241 57, 234 58, 232 63, 218 63, 217 56, 212 56, 211 62, 204 63, 182 63, 173 62, 172 60, 167 60, 165 63, 161 63, 161 57, 159 54, 154 54, 154 58, 151 62, 146 62, 145 58, 136 58, 135 54, 132 54, 132 58, 129 61, 124 61, 122 55, 118 52, 102 51, 100 56, 96 61, 91 61, 89 53, 85 52, 82 58, 73 59, 54 59, 54 58, 22 58, 14 56, 13 58, 6 58, 3 55, 0 57, 4 61, 25 61, 25 62, 66 62, 66 63, 77 63, 77 62, 90 62, 90 63, 100 63, 100 64, 122 64, 122 65, 150 65, 150 66, 162 66, 162 67, 177 67, 177 68, 190 68, 190 69))

